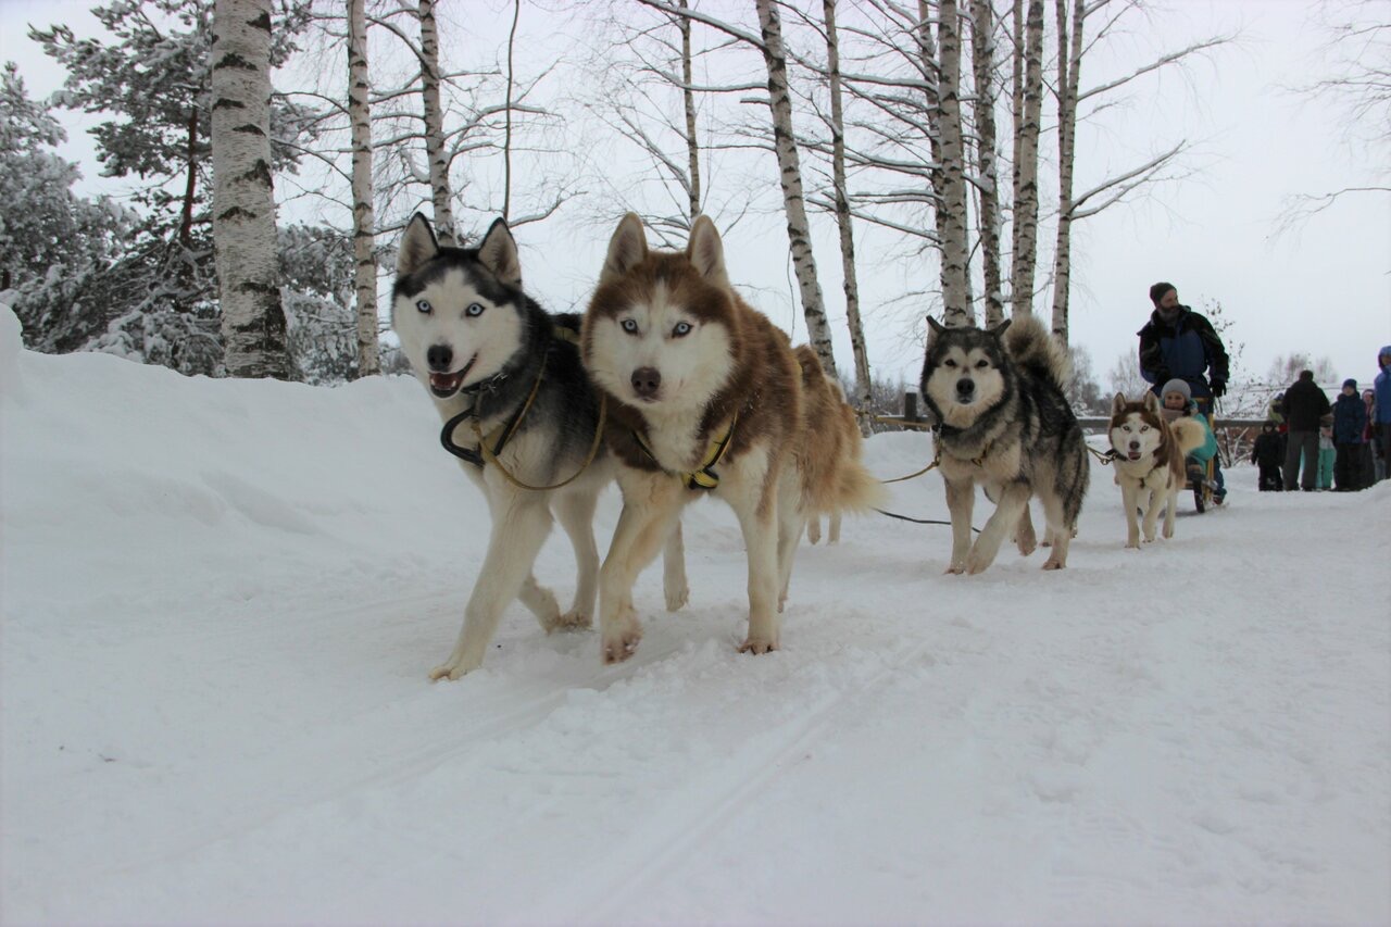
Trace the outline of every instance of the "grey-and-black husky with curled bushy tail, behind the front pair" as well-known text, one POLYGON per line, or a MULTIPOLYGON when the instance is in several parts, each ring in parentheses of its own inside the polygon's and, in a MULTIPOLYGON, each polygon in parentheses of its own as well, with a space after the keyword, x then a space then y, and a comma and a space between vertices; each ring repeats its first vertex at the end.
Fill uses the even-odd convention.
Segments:
POLYGON ((1029 497, 1043 502, 1052 554, 1043 569, 1067 565, 1067 548, 1091 476, 1077 416, 1063 395, 1068 363, 1032 316, 993 328, 932 327, 919 390, 939 423, 936 444, 951 512, 949 573, 979 573, 995 562, 1017 525, 1021 553, 1034 548, 1021 518, 1029 497), (971 544, 975 484, 995 502, 971 544))

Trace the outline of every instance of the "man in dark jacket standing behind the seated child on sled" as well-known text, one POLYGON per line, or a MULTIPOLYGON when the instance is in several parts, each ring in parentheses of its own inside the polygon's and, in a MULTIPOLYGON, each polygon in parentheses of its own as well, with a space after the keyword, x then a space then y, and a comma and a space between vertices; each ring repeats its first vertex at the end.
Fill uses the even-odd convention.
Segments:
MULTIPOLYGON (((1170 380, 1182 380, 1192 391, 1198 411, 1213 420, 1213 401, 1227 391, 1227 348, 1205 316, 1178 302, 1178 290, 1170 283, 1149 288, 1155 310, 1139 330, 1139 373, 1155 395, 1170 380), (1210 377, 1210 380, 1209 380, 1210 377)), ((1213 458, 1213 501, 1227 497, 1220 461, 1213 458)))

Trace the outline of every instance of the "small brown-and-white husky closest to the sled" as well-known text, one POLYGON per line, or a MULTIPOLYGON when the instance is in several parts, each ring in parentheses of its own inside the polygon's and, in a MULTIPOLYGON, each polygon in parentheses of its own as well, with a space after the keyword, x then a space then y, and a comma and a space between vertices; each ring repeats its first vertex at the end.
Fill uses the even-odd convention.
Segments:
POLYGON ((1159 398, 1146 391, 1142 401, 1117 393, 1111 401, 1111 451, 1116 482, 1125 508, 1125 546, 1139 547, 1139 516, 1145 509, 1145 541, 1155 540, 1159 507, 1164 505, 1164 537, 1174 536, 1174 509, 1187 472, 1184 457, 1203 445, 1207 434, 1195 419, 1167 422, 1159 398))

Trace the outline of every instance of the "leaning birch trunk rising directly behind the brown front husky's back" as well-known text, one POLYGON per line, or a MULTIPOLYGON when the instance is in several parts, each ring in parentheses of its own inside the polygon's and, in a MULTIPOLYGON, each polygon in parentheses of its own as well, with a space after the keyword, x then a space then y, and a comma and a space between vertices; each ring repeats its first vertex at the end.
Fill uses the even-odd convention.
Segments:
POLYGON ((817 280, 817 260, 811 252, 811 231, 807 206, 801 192, 801 161, 791 131, 791 95, 787 90, 787 56, 782 42, 782 21, 776 0, 754 0, 758 26, 764 39, 764 63, 768 65, 768 103, 773 121, 773 148, 778 152, 778 174, 787 212, 787 239, 791 263, 801 292, 801 312, 807 319, 807 340, 821 359, 826 376, 836 379, 836 358, 830 344, 830 326, 817 280))

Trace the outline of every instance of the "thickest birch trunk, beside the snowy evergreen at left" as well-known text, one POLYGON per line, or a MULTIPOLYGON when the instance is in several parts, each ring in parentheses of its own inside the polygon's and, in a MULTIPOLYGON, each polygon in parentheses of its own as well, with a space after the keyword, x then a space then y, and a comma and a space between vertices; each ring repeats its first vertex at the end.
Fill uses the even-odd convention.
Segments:
POLYGON ((213 242, 227 373, 289 373, 270 175, 270 0, 213 8, 213 242))

